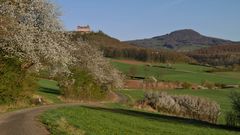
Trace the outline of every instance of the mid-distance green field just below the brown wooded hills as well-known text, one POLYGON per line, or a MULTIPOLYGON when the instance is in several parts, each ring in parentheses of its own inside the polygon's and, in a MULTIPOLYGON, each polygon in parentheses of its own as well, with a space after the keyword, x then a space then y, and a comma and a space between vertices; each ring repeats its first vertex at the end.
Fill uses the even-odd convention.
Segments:
MULTIPOLYGON (((121 62, 111 62, 114 67, 128 73, 132 67, 136 68, 136 76, 154 76, 158 80, 166 81, 180 81, 180 82, 192 82, 202 83, 203 81, 210 81, 213 83, 224 83, 224 84, 240 84, 239 77, 236 77, 239 72, 228 72, 228 73, 207 73, 206 71, 211 69, 209 67, 189 65, 189 64, 173 64, 171 68, 160 68, 160 67, 146 67, 144 64, 131 65, 121 62), (228 74, 228 75, 226 75, 228 74)), ((158 64, 160 66, 166 66, 166 64, 158 64)))

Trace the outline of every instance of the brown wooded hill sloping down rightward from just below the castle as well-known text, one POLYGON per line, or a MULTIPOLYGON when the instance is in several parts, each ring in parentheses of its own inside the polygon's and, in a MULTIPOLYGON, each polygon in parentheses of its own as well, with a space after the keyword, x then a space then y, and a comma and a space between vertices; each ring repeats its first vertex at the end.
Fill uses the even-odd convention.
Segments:
POLYGON ((105 57, 126 58, 140 61, 157 62, 189 62, 190 58, 182 53, 168 51, 165 49, 150 49, 123 43, 112 38, 103 32, 92 32, 81 34, 79 32, 69 32, 73 41, 85 41, 92 46, 98 46, 105 57))

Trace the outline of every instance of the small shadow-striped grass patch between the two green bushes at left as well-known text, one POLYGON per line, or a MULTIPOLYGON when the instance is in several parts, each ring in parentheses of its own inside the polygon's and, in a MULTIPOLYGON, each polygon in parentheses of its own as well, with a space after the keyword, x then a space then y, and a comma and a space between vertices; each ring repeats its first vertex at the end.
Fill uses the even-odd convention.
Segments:
POLYGON ((52 103, 61 103, 61 100, 58 98, 60 89, 56 81, 39 79, 38 86, 37 94, 47 98, 47 100, 52 103))

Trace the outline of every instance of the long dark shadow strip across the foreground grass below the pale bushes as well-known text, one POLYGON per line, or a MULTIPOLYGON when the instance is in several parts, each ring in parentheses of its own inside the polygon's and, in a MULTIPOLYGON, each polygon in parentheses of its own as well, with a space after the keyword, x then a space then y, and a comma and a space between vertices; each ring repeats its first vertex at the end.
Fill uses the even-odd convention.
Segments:
POLYGON ((155 120, 155 121, 161 121, 161 122, 171 122, 171 123, 179 123, 179 124, 189 124, 197 127, 206 127, 206 128, 213 128, 213 129, 224 129, 229 131, 240 131, 240 128, 238 127, 228 127, 226 125, 221 124, 211 124, 208 122, 200 121, 200 120, 194 120, 194 119, 187 119, 187 118, 180 118, 175 116, 167 116, 162 114, 154 114, 154 113, 148 113, 148 112, 141 112, 141 111, 135 111, 135 110, 127 110, 127 109, 112 109, 112 108, 103 108, 103 107, 90 107, 90 106, 83 106, 88 109, 94 109, 94 110, 100 110, 100 111, 106 111, 106 112, 113 112, 123 115, 130 115, 134 117, 141 117, 148 120, 155 120))

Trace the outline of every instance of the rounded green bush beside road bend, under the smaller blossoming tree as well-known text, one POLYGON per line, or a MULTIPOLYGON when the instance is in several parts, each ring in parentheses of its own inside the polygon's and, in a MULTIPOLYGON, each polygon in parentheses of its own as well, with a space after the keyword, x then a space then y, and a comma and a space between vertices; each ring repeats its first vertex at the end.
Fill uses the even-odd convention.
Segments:
POLYGON ((96 83, 89 72, 81 69, 72 69, 73 75, 60 79, 62 94, 67 99, 101 100, 107 95, 107 90, 96 83))

